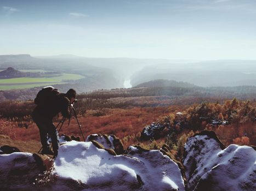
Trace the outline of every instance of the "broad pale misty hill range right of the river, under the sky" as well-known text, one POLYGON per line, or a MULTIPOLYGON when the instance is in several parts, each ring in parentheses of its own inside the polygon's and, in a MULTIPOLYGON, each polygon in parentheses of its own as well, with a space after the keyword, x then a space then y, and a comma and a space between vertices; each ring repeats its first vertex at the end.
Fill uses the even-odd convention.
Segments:
POLYGON ((157 79, 186 81, 201 87, 254 86, 256 60, 156 63, 136 71, 130 77, 130 83, 134 87, 157 79))

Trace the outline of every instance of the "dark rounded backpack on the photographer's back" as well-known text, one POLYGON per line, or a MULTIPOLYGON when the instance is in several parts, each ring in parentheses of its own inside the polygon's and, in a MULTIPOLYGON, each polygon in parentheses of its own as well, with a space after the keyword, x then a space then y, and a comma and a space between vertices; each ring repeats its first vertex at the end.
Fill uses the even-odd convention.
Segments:
POLYGON ((58 89, 47 86, 42 88, 38 93, 34 100, 36 105, 49 105, 53 104, 56 98, 60 95, 58 89))

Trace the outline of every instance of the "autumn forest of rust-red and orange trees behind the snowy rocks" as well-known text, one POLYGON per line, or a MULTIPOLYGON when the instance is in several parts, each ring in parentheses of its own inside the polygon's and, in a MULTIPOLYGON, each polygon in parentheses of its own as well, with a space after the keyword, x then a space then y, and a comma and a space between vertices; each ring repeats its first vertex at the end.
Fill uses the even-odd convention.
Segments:
MULTIPOLYGON (((167 144, 178 160, 186 138, 204 129, 214 130, 226 145, 256 145, 254 99, 188 96, 189 88, 162 88, 102 89, 79 94, 74 107, 83 133, 114 134, 125 147, 138 144, 152 149, 167 144), (161 124, 163 130, 159 136, 145 140, 141 133, 152 123, 161 124)), ((38 128, 31 119, 33 108, 33 100, 0 102, 0 134, 15 140, 39 141, 38 128)), ((61 116, 56 117, 55 124, 60 120, 61 116)), ((74 116, 69 127, 64 124, 62 133, 81 136, 74 116)))

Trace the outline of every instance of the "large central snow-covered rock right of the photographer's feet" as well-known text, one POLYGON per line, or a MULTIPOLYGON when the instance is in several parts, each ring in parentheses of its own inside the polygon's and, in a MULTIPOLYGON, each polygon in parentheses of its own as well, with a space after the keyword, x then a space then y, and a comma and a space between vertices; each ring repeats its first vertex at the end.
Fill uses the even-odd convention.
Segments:
POLYGON ((61 145, 53 176, 52 190, 185 190, 178 165, 162 152, 131 146, 115 155, 95 141, 61 145))

